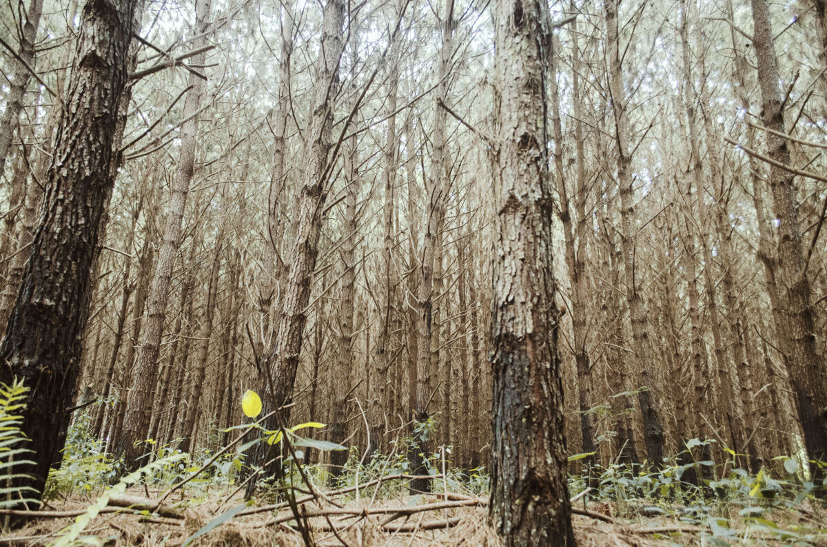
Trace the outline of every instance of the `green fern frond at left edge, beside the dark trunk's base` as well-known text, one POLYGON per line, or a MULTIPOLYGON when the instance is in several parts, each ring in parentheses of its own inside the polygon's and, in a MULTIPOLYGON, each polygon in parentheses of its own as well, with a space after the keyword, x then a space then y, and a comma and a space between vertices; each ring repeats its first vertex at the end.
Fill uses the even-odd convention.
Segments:
POLYGON ((20 429, 23 423, 20 412, 26 408, 28 391, 17 379, 11 386, 0 383, 0 509, 17 507, 22 502, 38 503, 26 497, 31 496, 30 492, 37 493, 36 489, 16 480, 31 478, 21 473, 21 467, 35 465, 31 459, 24 459, 25 454, 32 454, 34 450, 23 448, 28 438, 20 429))

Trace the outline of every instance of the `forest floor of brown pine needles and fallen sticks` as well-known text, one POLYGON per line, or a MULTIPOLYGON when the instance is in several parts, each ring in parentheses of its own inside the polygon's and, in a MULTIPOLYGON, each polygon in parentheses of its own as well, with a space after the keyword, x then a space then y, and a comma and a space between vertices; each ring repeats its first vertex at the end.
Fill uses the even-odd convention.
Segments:
MULTIPOLYGON (((130 499, 141 499, 144 490, 131 489, 130 499)), ((149 498, 143 497, 148 501, 149 498)), ((157 499, 157 498, 155 498, 157 499)), ((65 535, 75 516, 83 513, 95 501, 94 497, 77 495, 50 504, 54 515, 60 518, 40 518, 29 521, 26 526, 12 534, 0 535, 0 545, 34 546, 51 545, 65 535), (57 512, 62 511, 62 512, 57 512)), ((299 511, 307 515, 306 530, 314 545, 348 546, 428 546, 428 545, 501 545, 495 531, 489 526, 486 516, 485 498, 460 494, 396 497, 394 499, 360 500, 342 499, 322 502, 299 500, 299 511), (316 516, 313 516, 316 515, 316 516), (332 528, 336 528, 333 533, 332 528)), ((111 505, 111 504, 110 504, 111 505)), ((626 518, 616 513, 617 508, 607 502, 589 503, 586 506, 576 501, 573 516, 577 545, 581 547, 627 547, 640 545, 816 545, 827 547, 827 533, 815 541, 797 542, 791 538, 767 533, 767 530, 739 524, 735 518, 734 530, 729 537, 715 535, 708 526, 694 526, 681 522, 675 516, 643 516, 630 518, 629 507, 624 511, 626 518)), ((136 506, 140 509, 140 504, 136 506)), ((108 507, 106 511, 117 511, 108 507)), ((122 511, 122 510, 121 510, 122 511)), ((189 497, 171 502, 165 506, 164 514, 156 511, 147 516, 132 512, 102 512, 88 523, 80 541, 91 545, 169 545, 180 547, 258 547, 276 545, 279 547, 301 547, 306 545, 300 527, 292 518, 288 507, 275 507, 260 503, 241 504, 233 497, 226 500, 216 494, 189 497), (232 506, 236 507, 233 508, 232 506), (228 511, 229 510, 229 511, 228 511), (222 521, 222 516, 236 511, 235 515, 222 521), (193 537, 211 523, 221 521, 218 526, 199 537, 193 537)), ((784 511, 787 512, 787 511, 784 511)), ((786 525, 827 527, 827 510, 824 507, 810 508, 809 515, 791 514, 777 516, 786 520, 786 525)), ((737 514, 737 510, 734 511, 737 514)), ((303 519, 304 520, 304 519, 303 519)), ((79 545, 77 543, 71 545, 79 545)))

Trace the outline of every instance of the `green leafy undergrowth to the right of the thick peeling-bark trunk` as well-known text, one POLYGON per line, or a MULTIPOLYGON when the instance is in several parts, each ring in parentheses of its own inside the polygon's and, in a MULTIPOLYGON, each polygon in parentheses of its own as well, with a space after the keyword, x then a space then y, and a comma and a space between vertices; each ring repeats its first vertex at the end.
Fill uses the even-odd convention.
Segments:
MULTIPOLYGON (((715 441, 691 440, 690 447, 715 441)), ((732 454, 723 464, 710 459, 692 460, 686 449, 667 459, 661 469, 610 464, 595 465, 569 479, 572 495, 583 492, 595 476, 599 485, 581 497, 581 503, 601 502, 623 519, 663 516, 686 525, 708 529, 700 535, 710 545, 732 541, 764 545, 767 539, 789 545, 813 545, 827 535, 827 523, 811 518, 820 504, 817 485, 805 478, 796 459, 778 456, 758 473, 737 467, 732 454), (680 464, 689 459, 691 463, 680 464), (801 524, 802 521, 808 524, 801 524)), ((817 462, 816 464, 822 465, 817 462)))

